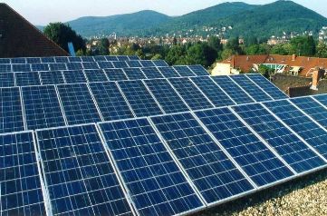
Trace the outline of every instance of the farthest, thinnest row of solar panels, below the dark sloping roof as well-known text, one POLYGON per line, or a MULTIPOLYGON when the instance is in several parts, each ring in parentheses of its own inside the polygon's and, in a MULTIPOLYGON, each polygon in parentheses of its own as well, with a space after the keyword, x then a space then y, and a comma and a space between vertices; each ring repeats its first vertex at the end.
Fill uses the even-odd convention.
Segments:
POLYGON ((0 64, 40 64, 40 63, 91 63, 140 60, 137 55, 97 55, 97 56, 53 56, 28 58, 0 58, 0 64))

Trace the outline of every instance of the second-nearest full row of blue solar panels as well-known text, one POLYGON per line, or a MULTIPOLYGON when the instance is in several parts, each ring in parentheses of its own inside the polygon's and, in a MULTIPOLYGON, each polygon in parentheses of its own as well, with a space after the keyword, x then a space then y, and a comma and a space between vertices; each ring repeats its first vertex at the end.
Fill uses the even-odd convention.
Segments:
POLYGON ((287 96, 258 74, 0 88, 0 133, 281 98, 287 96))

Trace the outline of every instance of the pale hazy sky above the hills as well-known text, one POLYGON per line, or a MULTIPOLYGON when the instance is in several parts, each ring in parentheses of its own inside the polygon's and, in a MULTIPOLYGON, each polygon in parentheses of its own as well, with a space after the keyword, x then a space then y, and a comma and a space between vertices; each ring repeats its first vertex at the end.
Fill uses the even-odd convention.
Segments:
MULTIPOLYGON (((236 0, 240 2, 242 0, 236 0)), ((236 2, 229 0, 229 2, 236 2)), ((217 5, 224 0, 0 0, 12 6, 34 25, 66 22, 86 15, 120 15, 144 9, 166 15, 184 15, 217 5)), ((274 0, 244 0, 248 4, 266 4, 274 0)), ((294 0, 327 17, 326 0, 294 0)))

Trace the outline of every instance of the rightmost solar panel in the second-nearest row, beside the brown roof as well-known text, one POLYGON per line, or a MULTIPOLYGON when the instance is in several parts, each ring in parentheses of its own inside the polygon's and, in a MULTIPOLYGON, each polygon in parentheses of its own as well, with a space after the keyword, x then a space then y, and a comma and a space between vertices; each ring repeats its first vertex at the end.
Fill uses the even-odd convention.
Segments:
POLYGON ((246 74, 247 78, 259 85, 265 93, 268 93, 275 100, 285 99, 288 96, 277 88, 273 83, 269 82, 260 74, 246 74))

